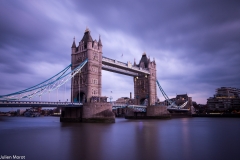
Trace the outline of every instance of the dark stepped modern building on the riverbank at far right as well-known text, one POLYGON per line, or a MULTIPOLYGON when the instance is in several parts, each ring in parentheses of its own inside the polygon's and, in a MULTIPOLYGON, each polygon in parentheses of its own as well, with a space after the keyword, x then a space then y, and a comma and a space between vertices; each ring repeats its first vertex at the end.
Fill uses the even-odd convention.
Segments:
POLYGON ((207 99, 207 106, 210 111, 239 111, 240 89, 232 87, 217 88, 214 97, 207 99))

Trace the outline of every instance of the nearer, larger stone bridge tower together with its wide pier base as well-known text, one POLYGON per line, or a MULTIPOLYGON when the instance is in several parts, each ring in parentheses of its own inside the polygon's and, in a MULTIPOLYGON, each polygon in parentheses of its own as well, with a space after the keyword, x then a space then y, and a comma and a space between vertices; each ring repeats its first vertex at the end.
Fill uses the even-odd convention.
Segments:
POLYGON ((80 107, 63 108, 61 122, 115 122, 112 105, 101 96, 102 42, 93 40, 87 28, 79 45, 75 39, 71 54, 72 70, 84 60, 88 62, 71 81, 71 102, 81 102, 80 107))

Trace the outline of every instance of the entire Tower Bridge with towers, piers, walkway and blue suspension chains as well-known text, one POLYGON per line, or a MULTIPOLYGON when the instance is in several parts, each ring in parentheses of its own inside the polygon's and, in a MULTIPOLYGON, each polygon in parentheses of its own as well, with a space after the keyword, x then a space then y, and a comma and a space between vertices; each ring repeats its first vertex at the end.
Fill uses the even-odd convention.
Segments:
MULTIPOLYGON (((77 121, 77 122, 114 122, 115 115, 112 109, 128 108, 128 116, 134 112, 145 112, 147 116, 167 115, 165 107, 151 107, 157 101, 157 84, 164 95, 165 99, 171 105, 171 108, 179 108, 171 102, 157 81, 156 62, 147 57, 146 53, 142 54, 139 63, 121 62, 102 54, 102 42, 93 40, 90 30, 86 29, 81 41, 76 45, 75 38, 71 47, 71 65, 51 77, 50 79, 24 89, 19 92, 0 96, 0 100, 12 101, 15 103, 8 105, 41 105, 56 106, 61 105, 62 116, 60 121, 77 121), (67 72, 71 68, 70 72, 67 72), (133 78, 134 98, 129 105, 112 105, 107 102, 107 97, 102 93, 102 70, 128 75, 133 78), (41 96, 58 89, 67 81, 71 80, 71 102, 70 103, 25 103, 19 101, 23 98, 31 99, 34 96, 41 96), (157 82, 157 83, 156 83, 157 82), (18 103, 18 104, 17 104, 18 103), (145 106, 143 104, 146 104, 145 106)), ((6 106, 2 101, 1 106, 6 106)))

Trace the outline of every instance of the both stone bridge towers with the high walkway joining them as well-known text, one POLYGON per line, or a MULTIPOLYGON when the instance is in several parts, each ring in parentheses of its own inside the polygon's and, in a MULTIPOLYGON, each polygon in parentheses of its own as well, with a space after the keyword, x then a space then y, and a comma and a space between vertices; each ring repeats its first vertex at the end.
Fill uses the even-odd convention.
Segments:
POLYGON ((102 70, 120 73, 133 77, 134 98, 137 105, 145 99, 148 105, 153 105, 157 99, 156 92, 156 63, 143 53, 138 64, 123 63, 118 60, 102 56, 102 42, 93 40, 90 30, 86 29, 82 40, 72 44, 72 69, 81 64, 86 58, 88 63, 72 80, 72 101, 89 102, 92 96, 101 97, 102 70), (78 82, 79 81, 79 82, 78 82), (79 88, 81 91, 79 93, 79 88))

